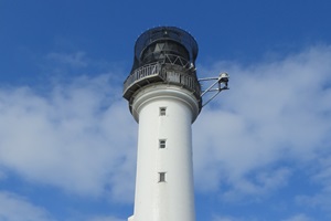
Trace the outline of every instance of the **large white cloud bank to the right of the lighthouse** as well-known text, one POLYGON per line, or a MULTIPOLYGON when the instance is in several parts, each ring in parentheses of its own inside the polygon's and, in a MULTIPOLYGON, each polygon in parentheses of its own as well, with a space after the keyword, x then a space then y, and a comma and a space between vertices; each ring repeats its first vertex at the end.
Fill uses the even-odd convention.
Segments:
POLYGON ((231 90, 206 106, 193 126, 197 188, 224 191, 227 185, 237 194, 266 193, 300 169, 280 161, 312 164, 330 148, 330 61, 331 48, 321 45, 280 61, 202 69, 227 71, 231 90))

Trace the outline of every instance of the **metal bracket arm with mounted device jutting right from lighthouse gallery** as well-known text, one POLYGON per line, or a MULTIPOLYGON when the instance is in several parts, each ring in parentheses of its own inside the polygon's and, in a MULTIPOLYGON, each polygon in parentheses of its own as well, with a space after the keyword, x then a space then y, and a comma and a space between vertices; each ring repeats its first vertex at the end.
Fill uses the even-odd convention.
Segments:
POLYGON ((228 74, 226 72, 221 73, 216 77, 204 77, 200 78, 199 82, 213 82, 206 90, 201 92, 201 98, 207 94, 213 93, 213 95, 202 104, 202 107, 207 105, 212 99, 214 99, 222 91, 229 90, 228 88, 228 74))

